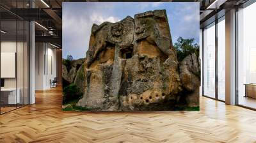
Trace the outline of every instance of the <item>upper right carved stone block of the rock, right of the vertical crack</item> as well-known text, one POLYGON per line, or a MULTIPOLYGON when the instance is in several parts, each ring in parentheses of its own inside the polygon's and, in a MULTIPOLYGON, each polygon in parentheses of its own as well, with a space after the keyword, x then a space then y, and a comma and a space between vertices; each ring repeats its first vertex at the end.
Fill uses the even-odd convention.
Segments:
POLYGON ((168 56, 174 54, 165 10, 154 10, 136 14, 134 22, 136 41, 146 39, 148 43, 156 45, 164 54, 168 56))

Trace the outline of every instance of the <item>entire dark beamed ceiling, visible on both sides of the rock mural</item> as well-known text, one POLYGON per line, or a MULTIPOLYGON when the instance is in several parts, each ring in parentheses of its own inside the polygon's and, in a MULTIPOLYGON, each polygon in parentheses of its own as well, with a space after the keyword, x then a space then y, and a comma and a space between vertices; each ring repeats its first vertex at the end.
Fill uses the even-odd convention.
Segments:
MULTIPOLYGON (((61 47, 62 37, 62 2, 75 2, 77 0, 1 0, 0 14, 3 24, 10 26, 12 20, 35 20, 36 41, 51 42, 61 47)), ((79 1, 79 0, 78 0, 79 1)), ((80 0, 86 1, 86 0, 80 0)), ((88 1, 88 0, 87 0, 88 1)), ((92 0, 95 1, 95 0, 92 0)), ((102 0, 104 1, 104 0, 102 0)), ((106 1, 106 0, 105 0, 106 1)), ((108 0, 115 1, 115 0, 108 0)), ((128 0, 129 1, 129 0, 128 0)), ((132 1, 132 0, 131 0, 132 1)), ((143 0, 141 0, 143 1, 143 0)), ((168 1, 168 0, 162 0, 168 1)), ((172 0, 181 1, 181 0, 172 0)), ((200 25, 211 19, 221 10, 243 4, 248 0, 184 0, 186 2, 200 2, 200 25)), ((13 27, 15 28, 15 27, 13 27)), ((18 29, 19 33, 19 29, 18 29)), ((10 32, 10 34, 12 34, 10 32)), ((13 33, 15 34, 15 33, 13 33)))

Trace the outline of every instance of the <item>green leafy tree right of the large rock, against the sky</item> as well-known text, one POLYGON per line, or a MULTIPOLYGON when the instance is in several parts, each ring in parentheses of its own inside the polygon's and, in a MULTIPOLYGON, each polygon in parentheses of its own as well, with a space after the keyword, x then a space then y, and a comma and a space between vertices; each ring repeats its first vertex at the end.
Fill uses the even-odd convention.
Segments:
POLYGON ((184 39, 179 37, 173 47, 177 52, 178 61, 182 61, 186 56, 193 53, 197 57, 199 56, 199 46, 195 43, 194 38, 184 39))

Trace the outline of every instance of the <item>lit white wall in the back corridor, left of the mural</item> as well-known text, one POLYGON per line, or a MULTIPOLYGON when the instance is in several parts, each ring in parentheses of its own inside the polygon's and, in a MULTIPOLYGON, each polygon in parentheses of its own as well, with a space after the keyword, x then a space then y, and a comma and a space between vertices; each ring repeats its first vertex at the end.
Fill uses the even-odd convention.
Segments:
POLYGON ((35 54, 35 89, 49 89, 51 88, 50 80, 57 75, 56 49, 49 43, 36 43, 35 54))

